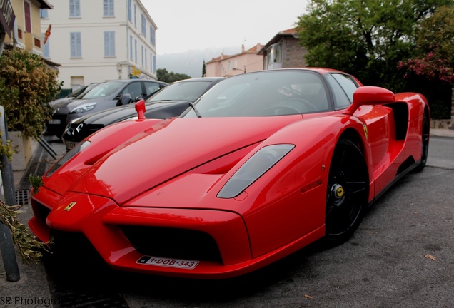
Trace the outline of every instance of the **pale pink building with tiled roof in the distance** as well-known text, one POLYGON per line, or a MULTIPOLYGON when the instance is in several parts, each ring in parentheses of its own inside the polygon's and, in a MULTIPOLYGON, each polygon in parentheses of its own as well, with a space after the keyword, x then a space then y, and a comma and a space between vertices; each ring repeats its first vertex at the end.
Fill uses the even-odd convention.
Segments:
POLYGON ((247 51, 244 50, 244 45, 241 46, 241 53, 233 56, 221 53, 221 56, 205 63, 206 77, 228 77, 251 71, 262 71, 263 56, 257 54, 261 48, 263 45, 258 43, 247 51))

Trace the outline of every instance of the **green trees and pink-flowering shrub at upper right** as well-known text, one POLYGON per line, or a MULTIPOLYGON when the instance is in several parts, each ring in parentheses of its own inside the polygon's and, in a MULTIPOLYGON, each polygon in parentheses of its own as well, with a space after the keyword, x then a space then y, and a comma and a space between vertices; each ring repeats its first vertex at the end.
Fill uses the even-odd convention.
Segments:
POLYGON ((298 17, 308 66, 352 73, 366 86, 423 93, 450 118, 453 0, 311 0, 298 17))

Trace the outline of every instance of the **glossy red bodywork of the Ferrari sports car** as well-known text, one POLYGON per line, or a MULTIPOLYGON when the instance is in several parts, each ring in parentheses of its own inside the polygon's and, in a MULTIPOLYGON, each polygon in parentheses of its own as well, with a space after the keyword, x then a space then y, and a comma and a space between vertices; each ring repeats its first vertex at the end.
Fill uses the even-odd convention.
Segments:
POLYGON ((372 92, 358 91, 363 103, 346 111, 110 125, 44 176, 29 227, 44 242, 51 230, 81 233, 121 270, 194 278, 251 272, 325 235, 328 171, 341 136, 358 140, 370 204, 421 159, 425 98, 378 89, 384 101, 373 102, 372 92), (258 150, 279 144, 294 148, 236 197, 218 197, 258 150), (220 259, 191 269, 147 264, 141 241, 159 240, 162 230, 209 235, 220 259))

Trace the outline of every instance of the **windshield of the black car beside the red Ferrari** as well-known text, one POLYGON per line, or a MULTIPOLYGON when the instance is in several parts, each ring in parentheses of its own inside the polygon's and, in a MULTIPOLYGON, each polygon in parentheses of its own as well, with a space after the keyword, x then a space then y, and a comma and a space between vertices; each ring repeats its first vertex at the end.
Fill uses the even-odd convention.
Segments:
POLYGON ((196 101, 211 81, 187 81, 173 83, 148 98, 147 103, 156 101, 196 101))

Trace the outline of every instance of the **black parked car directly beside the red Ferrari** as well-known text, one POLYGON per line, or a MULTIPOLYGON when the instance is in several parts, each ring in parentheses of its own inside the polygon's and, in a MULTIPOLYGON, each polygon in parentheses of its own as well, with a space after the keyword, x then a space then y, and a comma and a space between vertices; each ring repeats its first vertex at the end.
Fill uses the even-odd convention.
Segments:
MULTIPOLYGON (((145 117, 165 119, 179 116, 188 108, 189 102, 196 101, 209 88, 223 79, 223 77, 204 77, 171 83, 171 85, 166 86, 166 88, 146 99, 145 117)), ((136 109, 133 104, 130 104, 119 108, 110 108, 106 111, 100 111, 74 120, 66 126, 62 136, 66 150, 74 148, 76 143, 84 140, 96 130, 113 123, 136 118, 136 109)))

